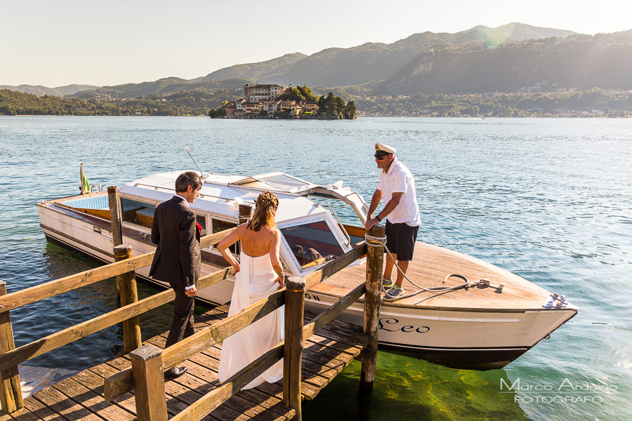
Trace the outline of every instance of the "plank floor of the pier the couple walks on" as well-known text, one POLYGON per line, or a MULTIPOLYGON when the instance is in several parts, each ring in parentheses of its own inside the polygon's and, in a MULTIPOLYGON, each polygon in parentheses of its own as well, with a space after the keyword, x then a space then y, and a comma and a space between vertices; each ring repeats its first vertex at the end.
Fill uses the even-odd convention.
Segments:
MULTIPOLYGON (((228 306, 219 306, 196 316, 196 328, 205 328, 225 319, 227 312, 228 306)), ((305 312, 305 323, 309 323, 314 316, 305 312)), ((147 340, 144 345, 152 344, 163 349, 167 333, 147 340)), ((359 326, 334 320, 305 340, 301 363, 302 398, 314 399, 343 368, 360 355, 370 339, 359 326)), ((213 380, 217 379, 220 350, 220 344, 214 345, 184 361, 182 365, 188 368, 188 372, 165 383, 165 399, 170 417, 217 387, 217 382, 213 380)), ((103 397, 104 380, 130 367, 129 356, 125 355, 83 370, 29 396, 24 400, 24 408, 11 414, 3 411, 0 421, 136 420, 133 392, 127 392, 112 402, 105 401, 103 397)), ((254 389, 237 392, 206 415, 204 420, 291 420, 295 411, 284 406, 282 394, 282 381, 263 383, 254 389)))

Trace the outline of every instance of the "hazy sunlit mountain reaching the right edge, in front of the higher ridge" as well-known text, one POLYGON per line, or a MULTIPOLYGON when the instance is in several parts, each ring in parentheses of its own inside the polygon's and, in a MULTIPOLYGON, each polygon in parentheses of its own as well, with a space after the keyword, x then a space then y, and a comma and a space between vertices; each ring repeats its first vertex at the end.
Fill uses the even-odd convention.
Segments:
POLYGON ((554 88, 632 89, 632 30, 567 39, 436 46, 375 93, 482 93, 554 88))

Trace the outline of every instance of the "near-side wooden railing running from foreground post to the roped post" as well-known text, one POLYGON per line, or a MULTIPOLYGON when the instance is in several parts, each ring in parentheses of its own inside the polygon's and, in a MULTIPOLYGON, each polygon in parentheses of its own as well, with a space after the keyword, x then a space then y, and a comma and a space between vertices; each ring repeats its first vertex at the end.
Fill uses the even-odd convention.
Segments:
MULTIPOLYGON (((369 232, 371 236, 383 236, 384 227, 378 225, 369 232)), ((301 358, 305 340, 317 330, 341 314, 353 302, 364 295, 364 333, 371 340, 362 358, 360 387, 370 390, 375 378, 378 341, 378 314, 380 308, 383 246, 358 244, 353 250, 324 265, 322 269, 303 278, 291 276, 286 286, 254 305, 242 309, 227 319, 216 321, 194 335, 164 350, 145 345, 131 352, 132 367, 123 370, 104 382, 105 399, 111 401, 132 389, 136 396, 136 415, 140 421, 166 421, 167 409, 164 389, 166 370, 186 359, 218 344, 254 321, 285 305, 285 338, 244 369, 235 373, 221 385, 188 406, 171 420, 201 420, 212 410, 248 385, 279 359, 284 359, 283 401, 295 410, 294 420, 301 420, 301 358), (313 288, 329 276, 347 267, 367 254, 366 283, 357 286, 325 312, 303 326, 305 291, 313 288)))

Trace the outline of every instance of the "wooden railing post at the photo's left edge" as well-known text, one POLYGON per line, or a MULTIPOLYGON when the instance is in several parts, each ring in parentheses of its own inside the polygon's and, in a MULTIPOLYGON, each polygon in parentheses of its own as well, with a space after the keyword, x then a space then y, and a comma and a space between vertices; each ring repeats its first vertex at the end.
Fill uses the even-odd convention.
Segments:
MULTIPOLYGON (((0 281, 0 295, 6 295, 6 282, 0 281)), ((0 353, 15 349, 13 340, 13 326, 11 326, 11 315, 9 312, 0 313, 0 353)), ((1 373, 2 383, 0 385, 0 403, 6 413, 13 413, 24 408, 22 401, 22 388, 20 387, 20 373, 18 366, 13 366, 3 370, 1 373)))

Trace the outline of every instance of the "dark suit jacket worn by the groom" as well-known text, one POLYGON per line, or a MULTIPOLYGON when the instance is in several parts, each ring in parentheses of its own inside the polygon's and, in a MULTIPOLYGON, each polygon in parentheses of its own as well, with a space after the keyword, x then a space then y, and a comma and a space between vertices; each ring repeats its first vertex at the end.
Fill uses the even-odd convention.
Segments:
POLYGON ((180 197, 160 203, 154 213, 152 243, 157 244, 150 276, 172 286, 192 286, 199 279, 201 254, 195 213, 180 197))

